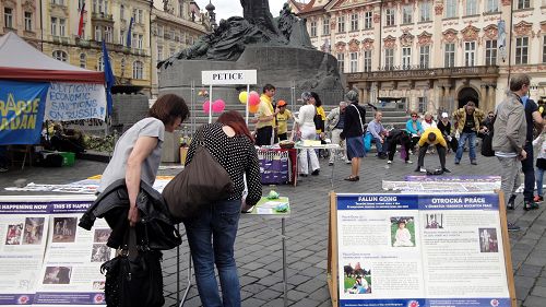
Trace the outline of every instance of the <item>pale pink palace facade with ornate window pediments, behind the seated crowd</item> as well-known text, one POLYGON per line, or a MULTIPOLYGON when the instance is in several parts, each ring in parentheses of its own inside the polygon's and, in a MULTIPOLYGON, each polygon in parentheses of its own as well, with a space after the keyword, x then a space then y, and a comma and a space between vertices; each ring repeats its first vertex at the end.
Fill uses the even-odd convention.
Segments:
POLYGON ((361 102, 492 110, 510 74, 546 99, 546 0, 290 0, 312 44, 337 58, 361 102))

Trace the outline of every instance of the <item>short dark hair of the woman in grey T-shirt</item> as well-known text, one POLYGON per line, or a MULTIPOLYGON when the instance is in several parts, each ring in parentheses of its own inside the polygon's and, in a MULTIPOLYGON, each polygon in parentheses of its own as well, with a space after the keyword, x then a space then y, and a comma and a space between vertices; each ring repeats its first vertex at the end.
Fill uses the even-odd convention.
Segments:
POLYGON ((190 110, 182 97, 166 94, 157 98, 147 111, 147 116, 159 119, 164 125, 171 125, 177 117, 181 117, 185 121, 190 116, 190 110))

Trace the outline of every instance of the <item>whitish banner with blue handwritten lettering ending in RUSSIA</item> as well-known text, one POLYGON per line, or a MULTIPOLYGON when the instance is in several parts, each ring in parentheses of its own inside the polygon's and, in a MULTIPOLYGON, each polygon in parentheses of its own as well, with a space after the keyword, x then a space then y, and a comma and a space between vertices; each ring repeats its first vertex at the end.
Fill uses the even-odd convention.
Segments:
POLYGON ((46 98, 45 120, 91 118, 106 118, 106 92, 103 84, 51 82, 46 98))

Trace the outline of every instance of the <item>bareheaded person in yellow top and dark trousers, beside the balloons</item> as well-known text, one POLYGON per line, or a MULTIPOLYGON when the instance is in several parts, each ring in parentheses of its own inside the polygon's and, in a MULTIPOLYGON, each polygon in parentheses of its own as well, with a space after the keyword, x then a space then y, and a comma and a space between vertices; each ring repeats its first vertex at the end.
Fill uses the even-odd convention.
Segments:
POLYGON ((275 127, 276 110, 273 110, 273 96, 275 96, 275 86, 265 84, 263 94, 260 96, 258 106, 258 121, 256 123, 256 144, 258 146, 273 144, 273 128, 275 127))

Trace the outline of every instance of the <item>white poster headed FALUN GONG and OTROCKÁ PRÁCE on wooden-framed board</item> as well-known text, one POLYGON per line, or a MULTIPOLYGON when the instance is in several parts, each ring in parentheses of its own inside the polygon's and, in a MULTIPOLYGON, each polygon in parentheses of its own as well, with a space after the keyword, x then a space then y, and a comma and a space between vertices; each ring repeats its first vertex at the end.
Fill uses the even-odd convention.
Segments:
POLYGON ((498 201, 337 194, 340 306, 510 306, 498 201))

